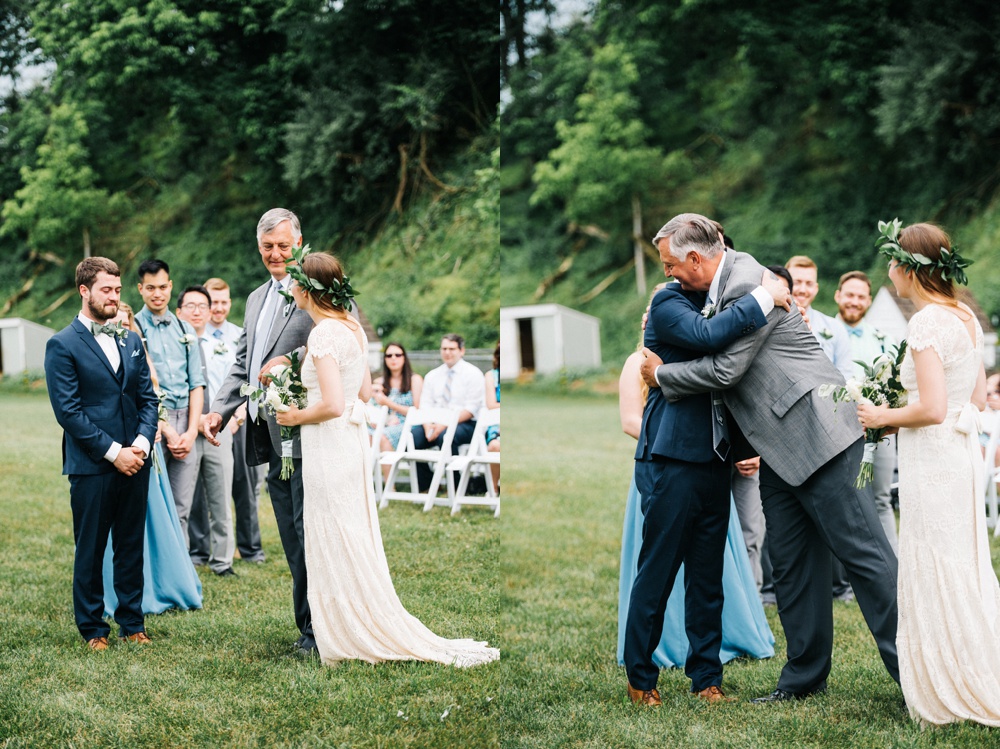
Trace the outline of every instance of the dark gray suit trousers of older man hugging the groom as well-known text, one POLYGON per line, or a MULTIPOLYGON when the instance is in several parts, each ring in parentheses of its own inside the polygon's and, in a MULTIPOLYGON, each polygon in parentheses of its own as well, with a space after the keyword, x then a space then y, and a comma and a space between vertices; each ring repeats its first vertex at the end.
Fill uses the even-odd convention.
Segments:
POLYGON ((788 642, 779 689, 803 694, 826 687, 833 653, 831 551, 847 569, 882 662, 899 683, 897 561, 871 487, 854 488, 863 451, 859 438, 800 486, 791 486, 761 461, 774 589, 788 642))

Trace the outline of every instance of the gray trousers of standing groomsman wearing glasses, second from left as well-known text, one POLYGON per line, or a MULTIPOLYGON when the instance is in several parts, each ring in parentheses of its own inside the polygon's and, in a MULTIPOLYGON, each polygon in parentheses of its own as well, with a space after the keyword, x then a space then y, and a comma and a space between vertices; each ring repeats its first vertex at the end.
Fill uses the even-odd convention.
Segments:
POLYGON ((207 560, 208 566, 217 573, 233 566, 236 548, 230 510, 233 446, 228 429, 219 432, 219 441, 222 444, 215 447, 198 435, 201 453, 198 484, 188 522, 192 561, 197 564, 207 560))

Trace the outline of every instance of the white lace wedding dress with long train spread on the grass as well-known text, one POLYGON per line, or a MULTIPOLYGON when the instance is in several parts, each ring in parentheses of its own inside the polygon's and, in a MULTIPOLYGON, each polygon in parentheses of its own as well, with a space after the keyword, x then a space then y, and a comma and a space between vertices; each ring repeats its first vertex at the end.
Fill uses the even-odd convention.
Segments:
POLYGON ((309 335, 302 363, 309 405, 320 398, 314 359, 323 356, 337 362, 347 404, 336 419, 302 426, 306 570, 320 657, 330 664, 419 660, 458 667, 496 660, 500 651, 485 643, 438 637, 396 596, 365 468, 371 448, 358 391, 367 348, 343 323, 323 320, 309 335))

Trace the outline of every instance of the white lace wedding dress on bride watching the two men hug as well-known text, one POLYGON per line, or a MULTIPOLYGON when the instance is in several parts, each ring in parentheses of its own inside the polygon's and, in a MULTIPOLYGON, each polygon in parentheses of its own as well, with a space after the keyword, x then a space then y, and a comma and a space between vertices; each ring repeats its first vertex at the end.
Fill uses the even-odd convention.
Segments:
POLYGON ((923 724, 1000 725, 1000 586, 990 565, 984 468, 969 403, 983 352, 947 308, 910 320, 901 380, 919 399, 911 351, 944 363, 944 423, 899 430, 899 675, 910 716, 923 724))

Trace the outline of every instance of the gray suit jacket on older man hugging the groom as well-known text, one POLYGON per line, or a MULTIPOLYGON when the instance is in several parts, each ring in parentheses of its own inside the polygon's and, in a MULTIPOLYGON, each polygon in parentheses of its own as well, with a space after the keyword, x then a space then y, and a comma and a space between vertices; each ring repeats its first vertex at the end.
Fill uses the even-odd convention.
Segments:
MULTIPOLYGON (((725 309, 760 283, 763 267, 729 250, 723 259, 718 304, 725 309)), ((862 436, 851 403, 820 398, 824 383, 844 384, 797 310, 775 307, 768 324, 722 352, 664 364, 657 381, 668 400, 724 390, 743 434, 775 473, 799 486, 862 436)))

